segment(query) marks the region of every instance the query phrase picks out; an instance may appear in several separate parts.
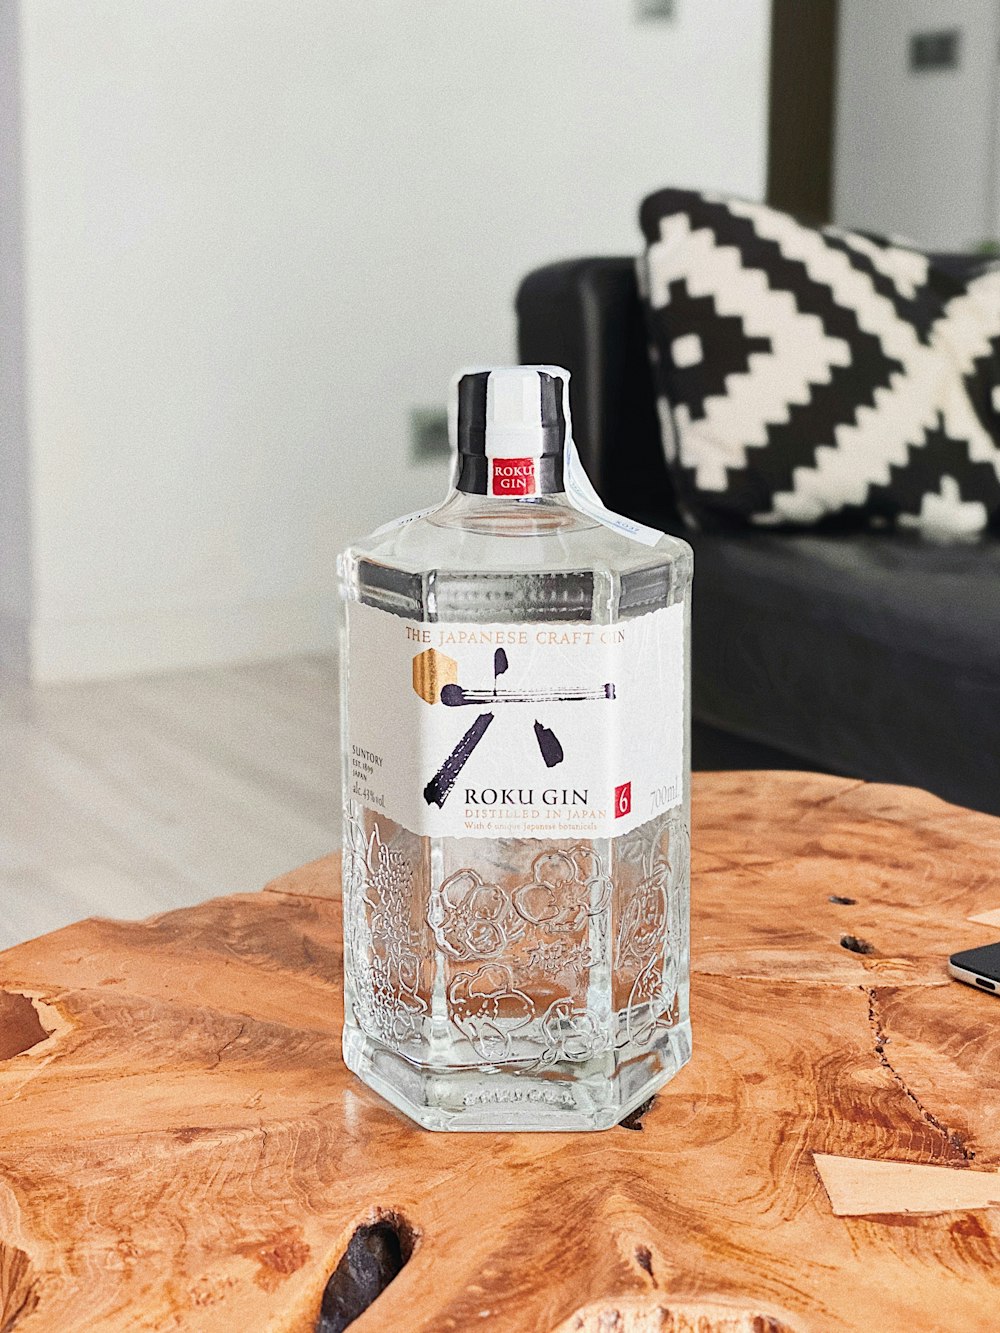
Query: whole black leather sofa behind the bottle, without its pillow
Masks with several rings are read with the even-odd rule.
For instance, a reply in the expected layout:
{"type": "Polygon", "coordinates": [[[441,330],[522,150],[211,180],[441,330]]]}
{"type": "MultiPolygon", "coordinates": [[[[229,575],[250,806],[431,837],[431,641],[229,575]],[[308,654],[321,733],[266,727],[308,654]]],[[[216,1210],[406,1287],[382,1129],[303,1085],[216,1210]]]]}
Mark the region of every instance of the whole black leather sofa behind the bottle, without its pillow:
{"type": "Polygon", "coordinates": [[[632,259],[529,273],[524,363],[564,365],[605,504],[695,548],[696,768],[812,768],[1000,814],[1000,541],[699,533],[660,448],[632,259]]]}

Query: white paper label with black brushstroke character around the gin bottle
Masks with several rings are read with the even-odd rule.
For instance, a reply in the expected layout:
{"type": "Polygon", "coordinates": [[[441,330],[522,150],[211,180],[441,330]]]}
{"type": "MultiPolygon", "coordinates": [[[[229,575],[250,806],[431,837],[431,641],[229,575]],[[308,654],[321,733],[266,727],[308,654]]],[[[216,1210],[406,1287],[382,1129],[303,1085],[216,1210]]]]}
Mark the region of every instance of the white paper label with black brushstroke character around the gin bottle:
{"type": "Polygon", "coordinates": [[[617,837],[683,797],[684,608],[440,624],[348,605],[351,798],[436,837],[617,837]]]}

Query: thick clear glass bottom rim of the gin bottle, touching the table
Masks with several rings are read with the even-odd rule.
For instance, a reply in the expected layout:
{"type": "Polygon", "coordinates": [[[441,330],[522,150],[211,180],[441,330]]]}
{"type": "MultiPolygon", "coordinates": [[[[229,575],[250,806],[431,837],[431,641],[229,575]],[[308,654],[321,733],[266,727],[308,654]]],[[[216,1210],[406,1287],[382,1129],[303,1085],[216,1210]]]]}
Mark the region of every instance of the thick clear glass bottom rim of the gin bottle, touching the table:
{"type": "Polygon", "coordinates": [[[424,1129],[533,1133],[612,1129],[648,1101],[691,1058],[691,1024],[663,1032],[639,1052],[608,1052],[587,1062],[431,1068],[353,1026],[344,1061],[361,1082],[424,1129]]]}

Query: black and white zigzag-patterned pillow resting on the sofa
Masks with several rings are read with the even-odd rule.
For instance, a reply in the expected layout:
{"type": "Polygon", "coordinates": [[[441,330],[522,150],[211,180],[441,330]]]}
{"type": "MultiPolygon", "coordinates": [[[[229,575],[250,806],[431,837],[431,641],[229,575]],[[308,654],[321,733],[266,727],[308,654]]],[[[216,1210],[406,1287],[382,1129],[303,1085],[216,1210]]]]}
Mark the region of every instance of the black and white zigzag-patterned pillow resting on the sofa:
{"type": "Polygon", "coordinates": [[[640,281],[701,525],[1000,531],[1000,265],[665,189],[640,281]]]}

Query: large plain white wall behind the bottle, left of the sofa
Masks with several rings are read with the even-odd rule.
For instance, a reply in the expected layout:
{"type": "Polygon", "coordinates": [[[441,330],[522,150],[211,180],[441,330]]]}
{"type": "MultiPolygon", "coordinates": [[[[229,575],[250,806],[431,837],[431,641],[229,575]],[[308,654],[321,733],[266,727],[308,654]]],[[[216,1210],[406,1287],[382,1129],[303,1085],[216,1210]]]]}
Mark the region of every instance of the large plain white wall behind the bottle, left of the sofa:
{"type": "Polygon", "coordinates": [[[332,641],[519,277],[760,196],[767,0],[23,0],[36,678],[332,641]]]}

